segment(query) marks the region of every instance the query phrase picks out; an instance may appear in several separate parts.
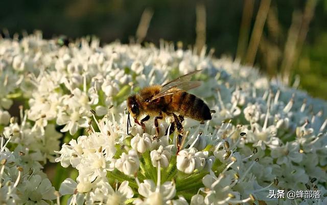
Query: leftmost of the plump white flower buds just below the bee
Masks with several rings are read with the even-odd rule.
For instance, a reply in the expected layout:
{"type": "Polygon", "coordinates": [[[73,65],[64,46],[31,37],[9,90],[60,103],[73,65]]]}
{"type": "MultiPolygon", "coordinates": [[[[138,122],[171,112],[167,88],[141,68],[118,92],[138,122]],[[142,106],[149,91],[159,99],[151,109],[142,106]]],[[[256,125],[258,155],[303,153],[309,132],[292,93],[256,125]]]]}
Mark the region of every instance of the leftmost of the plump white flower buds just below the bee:
{"type": "Polygon", "coordinates": [[[128,154],[122,153],[121,157],[115,162],[115,168],[126,175],[133,175],[139,168],[139,160],[134,150],[129,150],[128,154]]]}

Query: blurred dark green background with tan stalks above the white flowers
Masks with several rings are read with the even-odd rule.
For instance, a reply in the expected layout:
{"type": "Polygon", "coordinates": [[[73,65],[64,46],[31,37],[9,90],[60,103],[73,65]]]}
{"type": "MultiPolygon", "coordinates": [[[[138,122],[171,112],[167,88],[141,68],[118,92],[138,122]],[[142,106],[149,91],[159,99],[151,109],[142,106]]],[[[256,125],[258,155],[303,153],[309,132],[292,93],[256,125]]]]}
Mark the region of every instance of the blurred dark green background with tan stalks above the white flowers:
{"type": "Polygon", "coordinates": [[[159,39],[214,49],[327,99],[327,0],[2,1],[5,37],[96,35],[101,43],[159,39]],[[299,77],[299,78],[298,78],[299,77]]]}

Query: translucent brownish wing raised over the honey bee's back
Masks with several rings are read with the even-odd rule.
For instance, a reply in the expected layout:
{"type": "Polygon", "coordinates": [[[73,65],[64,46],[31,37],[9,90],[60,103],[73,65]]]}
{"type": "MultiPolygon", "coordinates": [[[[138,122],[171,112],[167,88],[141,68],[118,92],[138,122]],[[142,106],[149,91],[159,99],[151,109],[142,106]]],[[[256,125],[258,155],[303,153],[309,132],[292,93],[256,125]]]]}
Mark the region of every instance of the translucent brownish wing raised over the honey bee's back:
{"type": "Polygon", "coordinates": [[[188,73],[186,75],[180,76],[175,80],[172,80],[164,85],[162,85],[160,92],[153,96],[150,101],[153,101],[155,99],[173,95],[177,92],[181,92],[181,90],[190,90],[195,87],[198,87],[201,85],[201,81],[190,81],[192,76],[201,72],[202,70],[193,71],[191,73],[188,73]]]}

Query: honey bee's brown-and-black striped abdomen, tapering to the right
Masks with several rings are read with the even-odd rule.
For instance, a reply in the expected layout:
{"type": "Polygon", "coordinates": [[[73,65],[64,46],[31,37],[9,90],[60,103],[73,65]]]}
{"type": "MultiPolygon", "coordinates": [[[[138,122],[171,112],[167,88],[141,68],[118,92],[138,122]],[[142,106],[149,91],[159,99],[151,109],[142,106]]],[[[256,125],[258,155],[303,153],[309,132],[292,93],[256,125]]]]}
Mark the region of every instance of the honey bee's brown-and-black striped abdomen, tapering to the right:
{"type": "Polygon", "coordinates": [[[167,102],[167,111],[169,112],[178,112],[179,115],[198,121],[211,120],[209,107],[195,95],[178,92],[171,96],[166,96],[165,100],[167,102]]]}

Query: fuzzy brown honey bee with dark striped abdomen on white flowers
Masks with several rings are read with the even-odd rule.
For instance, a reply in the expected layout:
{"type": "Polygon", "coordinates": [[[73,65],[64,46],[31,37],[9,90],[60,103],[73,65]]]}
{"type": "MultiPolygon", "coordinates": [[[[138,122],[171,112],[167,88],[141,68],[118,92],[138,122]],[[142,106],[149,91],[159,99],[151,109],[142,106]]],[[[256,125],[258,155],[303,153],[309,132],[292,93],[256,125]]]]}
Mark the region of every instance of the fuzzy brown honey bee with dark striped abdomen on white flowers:
{"type": "MultiPolygon", "coordinates": [[[[134,118],[134,122],[141,125],[145,130],[144,122],[154,117],[154,125],[156,135],[159,134],[158,120],[164,117],[174,117],[171,128],[175,126],[179,133],[183,132],[181,122],[183,117],[192,118],[203,122],[211,120],[211,111],[209,107],[200,98],[187,93],[187,90],[193,89],[201,85],[200,81],[190,81],[192,76],[199,73],[201,70],[188,73],[179,78],[170,81],[164,85],[151,85],[143,88],[136,95],[131,95],[127,99],[128,106],[128,124],[130,124],[129,115],[134,118]],[[176,113],[179,115],[177,116],[176,113]],[[146,117],[138,121],[138,118],[146,114],[146,117]]],[[[170,130],[170,133],[172,131],[170,130]]],[[[167,131],[166,131],[167,133],[167,131]]]]}

